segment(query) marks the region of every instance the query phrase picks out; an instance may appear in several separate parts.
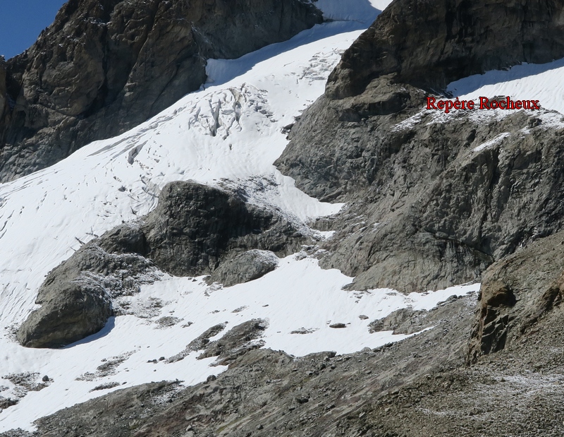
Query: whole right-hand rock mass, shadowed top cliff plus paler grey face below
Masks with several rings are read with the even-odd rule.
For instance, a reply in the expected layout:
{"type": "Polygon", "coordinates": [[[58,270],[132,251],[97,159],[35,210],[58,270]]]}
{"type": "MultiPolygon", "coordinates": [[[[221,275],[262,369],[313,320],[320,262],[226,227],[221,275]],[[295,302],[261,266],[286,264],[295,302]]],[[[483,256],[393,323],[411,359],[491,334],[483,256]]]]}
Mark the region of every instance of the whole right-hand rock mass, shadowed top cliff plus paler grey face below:
{"type": "Polygon", "coordinates": [[[343,54],[276,161],[310,196],[348,203],[320,223],[336,231],[322,266],[354,276],[351,289],[421,292],[479,280],[562,229],[558,117],[423,108],[450,80],[564,56],[551,36],[563,8],[394,1],[343,54]]]}

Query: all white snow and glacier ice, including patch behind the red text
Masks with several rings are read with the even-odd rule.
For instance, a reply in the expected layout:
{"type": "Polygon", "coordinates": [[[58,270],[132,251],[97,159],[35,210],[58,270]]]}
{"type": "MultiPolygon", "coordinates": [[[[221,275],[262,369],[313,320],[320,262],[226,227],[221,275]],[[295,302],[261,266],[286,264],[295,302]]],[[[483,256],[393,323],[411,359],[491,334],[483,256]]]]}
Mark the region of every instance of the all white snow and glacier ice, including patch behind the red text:
{"type": "MultiPolygon", "coordinates": [[[[49,270],[81,244],[146,215],[169,181],[243,189],[251,203],[276,208],[316,239],[331,238],[309,229],[307,222],[343,205],[310,198],[272,163],[288,143],[283,126],[324,92],[342,52],[386,4],[319,0],[317,6],[332,22],[240,59],[211,60],[207,84],[145,124],[87,145],[53,167],[0,184],[0,396],[20,399],[0,412],[0,432],[32,430],[35,419],[111,390],[150,381],[204,381],[225,368],[214,366],[214,359],[197,360],[197,353],[176,362],[166,359],[217,323],[227,328],[212,340],[238,323],[263,318],[269,323],[264,347],[295,356],[324,350],[343,354],[405,337],[370,334],[369,321],[407,306],[431,309],[453,294],[477,292],[479,284],[407,296],[391,289],[346,292],[342,287],[353,278],[321,270],[315,258],[302,252],[279,260],[278,268],[261,279],[234,287],[210,287],[202,277],[162,273],[126,298],[128,315],[111,318],[102,332],[63,349],[26,349],[13,335],[35,309],[37,289],[49,270]],[[165,316],[178,323],[158,323],[165,316]],[[347,328],[332,329],[331,323],[347,328]],[[308,333],[292,333],[296,330],[308,333]],[[104,363],[109,364],[106,371],[97,370],[104,363]],[[27,391],[11,381],[19,373],[37,383],[44,375],[53,381],[41,391],[27,391]],[[91,391],[109,383],[116,386],[91,391]]],[[[459,80],[449,90],[466,100],[479,95],[534,98],[544,108],[564,112],[563,74],[562,61],[522,65],[459,80]]]]}

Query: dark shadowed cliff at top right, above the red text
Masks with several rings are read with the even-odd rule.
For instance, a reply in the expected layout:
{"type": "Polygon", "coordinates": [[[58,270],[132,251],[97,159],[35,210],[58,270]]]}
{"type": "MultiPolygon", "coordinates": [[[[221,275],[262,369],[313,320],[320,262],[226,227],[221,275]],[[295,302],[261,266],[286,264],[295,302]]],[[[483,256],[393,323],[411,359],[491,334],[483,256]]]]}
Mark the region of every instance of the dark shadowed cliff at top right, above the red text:
{"type": "Polygon", "coordinates": [[[326,95],[361,94],[380,76],[441,90],[453,80],[564,56],[564,2],[396,0],[343,54],[326,95]]]}

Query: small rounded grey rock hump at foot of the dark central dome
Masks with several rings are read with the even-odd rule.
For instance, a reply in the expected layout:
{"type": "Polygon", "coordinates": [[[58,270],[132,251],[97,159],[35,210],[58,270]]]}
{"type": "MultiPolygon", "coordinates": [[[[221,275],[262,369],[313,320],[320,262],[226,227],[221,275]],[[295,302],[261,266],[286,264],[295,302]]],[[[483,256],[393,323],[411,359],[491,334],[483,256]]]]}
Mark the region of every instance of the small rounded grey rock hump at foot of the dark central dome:
{"type": "Polygon", "coordinates": [[[278,267],[278,257],[275,253],[255,249],[219,265],[219,268],[207,278],[207,283],[211,285],[219,282],[224,287],[231,287],[259,279],[276,267],[278,267]]]}

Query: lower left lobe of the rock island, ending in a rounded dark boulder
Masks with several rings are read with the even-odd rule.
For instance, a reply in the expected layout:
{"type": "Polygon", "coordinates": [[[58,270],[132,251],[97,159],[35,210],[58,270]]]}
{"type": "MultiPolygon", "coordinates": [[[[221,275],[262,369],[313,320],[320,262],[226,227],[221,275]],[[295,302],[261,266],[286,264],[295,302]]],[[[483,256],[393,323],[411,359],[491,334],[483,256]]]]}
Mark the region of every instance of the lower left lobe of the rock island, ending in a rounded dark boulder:
{"type": "Polygon", "coordinates": [[[35,301],[41,308],[20,326],[18,341],[25,347],[62,347],[97,333],[114,314],[112,298],[135,291],[151,267],[142,256],[87,244],[49,272],[35,301]]]}

